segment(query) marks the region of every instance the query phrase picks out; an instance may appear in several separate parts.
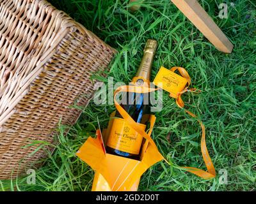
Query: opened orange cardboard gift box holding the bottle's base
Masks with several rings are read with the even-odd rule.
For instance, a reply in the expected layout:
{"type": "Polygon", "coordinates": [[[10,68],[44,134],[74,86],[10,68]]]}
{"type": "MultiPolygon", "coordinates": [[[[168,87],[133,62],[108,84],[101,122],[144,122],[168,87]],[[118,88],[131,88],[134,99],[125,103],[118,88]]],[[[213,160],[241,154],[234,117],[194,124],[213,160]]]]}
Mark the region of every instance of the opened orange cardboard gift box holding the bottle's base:
{"type": "MultiPolygon", "coordinates": [[[[125,128],[132,129],[124,119],[112,118],[113,115],[115,113],[111,115],[108,129],[104,129],[102,134],[98,129],[97,138],[89,137],[77,152],[77,156],[95,170],[92,191],[137,191],[141,175],[150,166],[161,161],[163,157],[157,154],[156,149],[147,140],[143,143],[140,161],[106,153],[105,147],[109,132],[118,128],[113,127],[115,120],[123,120],[125,128]]],[[[148,136],[151,135],[156,121],[154,115],[149,115],[149,117],[148,136]]]]}

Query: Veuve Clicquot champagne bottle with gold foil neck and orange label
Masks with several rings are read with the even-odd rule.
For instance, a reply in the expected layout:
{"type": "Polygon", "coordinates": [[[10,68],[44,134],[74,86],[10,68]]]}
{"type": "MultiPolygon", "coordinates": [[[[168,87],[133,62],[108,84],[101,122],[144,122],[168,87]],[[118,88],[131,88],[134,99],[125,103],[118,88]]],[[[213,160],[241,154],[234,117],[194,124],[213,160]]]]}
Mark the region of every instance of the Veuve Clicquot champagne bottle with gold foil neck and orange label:
{"type": "MultiPolygon", "coordinates": [[[[148,40],[144,49],[143,59],[140,67],[133,78],[132,84],[136,86],[147,86],[150,83],[150,74],[154,55],[156,54],[157,41],[148,40]]],[[[126,104],[120,104],[124,110],[134,119],[135,122],[146,129],[147,119],[143,117],[150,113],[149,94],[127,93],[126,104]]],[[[115,117],[122,118],[116,111],[115,117]]],[[[143,137],[138,135],[131,127],[124,123],[124,119],[115,120],[107,142],[106,150],[110,154],[138,159],[140,156],[143,137]]]]}

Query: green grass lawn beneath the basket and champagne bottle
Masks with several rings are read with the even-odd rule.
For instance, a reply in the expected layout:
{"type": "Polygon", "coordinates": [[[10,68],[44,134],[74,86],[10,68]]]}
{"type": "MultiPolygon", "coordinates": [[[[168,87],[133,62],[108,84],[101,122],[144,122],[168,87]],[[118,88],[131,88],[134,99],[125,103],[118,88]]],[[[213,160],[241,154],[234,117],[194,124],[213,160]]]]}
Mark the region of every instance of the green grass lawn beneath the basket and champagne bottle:
{"type": "MultiPolygon", "coordinates": [[[[187,108],[200,115],[207,133],[207,147],[218,173],[228,171],[228,184],[203,180],[191,173],[161,162],[143,175],[140,191],[255,191],[256,182],[256,3],[252,0],[225,1],[228,18],[218,18],[218,5],[224,1],[200,1],[235,45],[232,54],[216,50],[169,0],[145,1],[141,10],[131,13],[125,1],[51,1],[60,10],[81,22],[102,40],[118,50],[109,77],[115,82],[131,81],[140,64],[148,38],[159,41],[152,79],[160,66],[183,66],[200,94],[185,94],[187,108]]],[[[107,79],[95,76],[103,82],[107,79]]],[[[175,165],[205,169],[200,153],[200,128],[175,105],[165,92],[164,108],[157,113],[152,138],[165,157],[175,165]],[[170,136],[170,140],[168,137],[170,136]]],[[[0,181],[2,190],[90,191],[93,170],[76,157],[76,151],[89,135],[94,135],[97,117],[108,124],[113,105],[79,107],[83,115],[67,136],[61,126],[56,140],[60,145],[36,170],[36,184],[26,177],[0,181]]]]}

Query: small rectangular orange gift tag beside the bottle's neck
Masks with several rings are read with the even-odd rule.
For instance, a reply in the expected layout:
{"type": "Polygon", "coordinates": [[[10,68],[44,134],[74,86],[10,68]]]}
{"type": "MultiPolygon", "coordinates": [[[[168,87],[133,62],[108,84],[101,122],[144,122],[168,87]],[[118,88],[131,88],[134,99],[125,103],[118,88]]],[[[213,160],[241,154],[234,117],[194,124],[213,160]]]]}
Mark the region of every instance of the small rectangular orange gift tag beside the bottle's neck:
{"type": "Polygon", "coordinates": [[[188,80],[162,66],[153,83],[164,91],[170,92],[171,97],[178,98],[179,93],[188,84],[188,80]]]}

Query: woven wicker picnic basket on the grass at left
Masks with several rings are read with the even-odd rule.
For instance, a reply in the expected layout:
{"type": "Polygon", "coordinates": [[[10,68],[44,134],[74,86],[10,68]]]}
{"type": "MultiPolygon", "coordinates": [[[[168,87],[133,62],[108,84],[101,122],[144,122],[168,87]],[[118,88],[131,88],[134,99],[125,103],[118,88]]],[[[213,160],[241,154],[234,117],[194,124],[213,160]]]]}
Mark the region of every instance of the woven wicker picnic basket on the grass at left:
{"type": "Polygon", "coordinates": [[[53,142],[58,122],[93,95],[95,71],[115,53],[83,25],[47,1],[0,0],[0,179],[45,156],[32,140],[53,142]]]}

